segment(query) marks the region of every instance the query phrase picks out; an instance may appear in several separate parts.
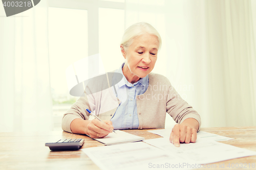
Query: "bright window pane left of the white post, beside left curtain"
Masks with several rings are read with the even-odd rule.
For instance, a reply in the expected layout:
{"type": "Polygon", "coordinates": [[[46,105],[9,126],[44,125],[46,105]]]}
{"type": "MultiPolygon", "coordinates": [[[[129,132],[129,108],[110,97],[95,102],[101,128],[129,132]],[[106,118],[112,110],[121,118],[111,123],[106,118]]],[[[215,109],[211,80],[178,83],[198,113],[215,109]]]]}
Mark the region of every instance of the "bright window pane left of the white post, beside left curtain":
{"type": "Polygon", "coordinates": [[[60,128],[65,110],[76,101],[69,94],[65,73],[70,64],[88,56],[87,32],[87,10],[49,8],[49,58],[55,130],[60,128]]]}

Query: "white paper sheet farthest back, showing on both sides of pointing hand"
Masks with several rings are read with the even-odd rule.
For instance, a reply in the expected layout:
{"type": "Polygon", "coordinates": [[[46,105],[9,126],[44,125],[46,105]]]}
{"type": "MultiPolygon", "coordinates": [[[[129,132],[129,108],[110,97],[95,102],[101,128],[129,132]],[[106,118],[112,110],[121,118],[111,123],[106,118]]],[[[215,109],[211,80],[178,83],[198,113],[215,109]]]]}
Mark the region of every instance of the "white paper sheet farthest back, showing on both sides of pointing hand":
{"type": "MultiPolygon", "coordinates": [[[[172,132],[172,129],[159,129],[159,130],[150,130],[148,132],[155,133],[159,136],[169,138],[170,133],[172,132]]],[[[221,136],[221,135],[216,135],[213,133],[208,133],[204,131],[199,131],[197,133],[197,138],[205,138],[209,140],[215,140],[215,141],[223,141],[223,140],[231,140],[232,138],[221,136]]]]}

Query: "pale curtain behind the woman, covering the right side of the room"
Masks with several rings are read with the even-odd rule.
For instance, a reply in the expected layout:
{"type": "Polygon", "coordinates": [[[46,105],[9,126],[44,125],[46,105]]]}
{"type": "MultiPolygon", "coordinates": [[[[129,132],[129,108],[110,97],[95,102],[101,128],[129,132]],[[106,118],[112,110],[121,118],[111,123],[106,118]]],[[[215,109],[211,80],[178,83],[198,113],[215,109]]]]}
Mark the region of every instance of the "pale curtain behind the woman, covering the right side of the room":
{"type": "Polygon", "coordinates": [[[153,72],[201,115],[202,127],[256,126],[256,2],[126,0],[125,28],[163,39],[153,72]]]}

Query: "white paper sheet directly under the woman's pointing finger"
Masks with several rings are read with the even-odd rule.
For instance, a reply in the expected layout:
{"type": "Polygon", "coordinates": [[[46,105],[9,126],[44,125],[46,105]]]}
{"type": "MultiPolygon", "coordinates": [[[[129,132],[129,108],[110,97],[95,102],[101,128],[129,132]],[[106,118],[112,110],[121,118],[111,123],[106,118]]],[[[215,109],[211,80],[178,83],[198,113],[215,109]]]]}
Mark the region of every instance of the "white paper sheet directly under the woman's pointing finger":
{"type": "Polygon", "coordinates": [[[183,160],[197,162],[199,164],[256,155],[254,151],[202,138],[199,138],[196,143],[181,143],[180,147],[175,147],[166,137],[148,139],[144,140],[144,142],[154,145],[168,153],[173,153],[183,160]]]}

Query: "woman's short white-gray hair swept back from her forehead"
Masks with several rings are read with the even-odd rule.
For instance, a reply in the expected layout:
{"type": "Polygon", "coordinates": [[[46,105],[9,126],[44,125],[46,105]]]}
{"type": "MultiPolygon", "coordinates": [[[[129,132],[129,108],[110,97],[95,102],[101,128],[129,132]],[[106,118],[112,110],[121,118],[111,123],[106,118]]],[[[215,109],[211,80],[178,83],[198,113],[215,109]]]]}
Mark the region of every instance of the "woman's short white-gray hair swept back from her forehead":
{"type": "Polygon", "coordinates": [[[160,47],[162,44],[161,36],[152,25],[146,22],[134,23],[132,26],[127,28],[123,34],[120,45],[123,45],[124,50],[126,51],[126,49],[132,44],[135,38],[145,33],[155,35],[158,37],[158,42],[159,42],[158,50],[160,50],[160,47]]]}

